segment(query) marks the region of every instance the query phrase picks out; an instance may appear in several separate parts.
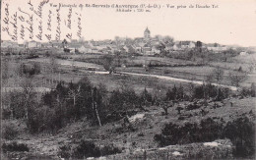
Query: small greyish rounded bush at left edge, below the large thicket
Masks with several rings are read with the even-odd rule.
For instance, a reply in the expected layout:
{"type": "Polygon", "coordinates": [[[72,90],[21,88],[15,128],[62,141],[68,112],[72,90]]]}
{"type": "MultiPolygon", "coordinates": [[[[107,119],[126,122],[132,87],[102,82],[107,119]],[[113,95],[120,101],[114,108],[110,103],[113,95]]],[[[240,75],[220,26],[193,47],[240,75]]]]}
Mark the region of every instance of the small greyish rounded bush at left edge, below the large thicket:
{"type": "Polygon", "coordinates": [[[4,123],[2,126],[2,135],[3,138],[12,140],[17,137],[18,135],[18,130],[16,126],[13,123],[4,123]]]}

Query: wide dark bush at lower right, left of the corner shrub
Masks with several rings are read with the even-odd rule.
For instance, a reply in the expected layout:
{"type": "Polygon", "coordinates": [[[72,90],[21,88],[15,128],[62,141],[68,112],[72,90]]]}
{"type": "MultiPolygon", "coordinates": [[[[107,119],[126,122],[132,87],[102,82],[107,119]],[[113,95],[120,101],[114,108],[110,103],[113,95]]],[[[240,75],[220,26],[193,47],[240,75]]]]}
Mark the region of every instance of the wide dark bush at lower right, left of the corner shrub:
{"type": "Polygon", "coordinates": [[[178,126],[169,123],[154,138],[160,143],[160,146],[213,141],[222,137],[222,129],[223,125],[215,122],[211,118],[202,120],[200,125],[186,123],[184,126],[178,126]]]}

